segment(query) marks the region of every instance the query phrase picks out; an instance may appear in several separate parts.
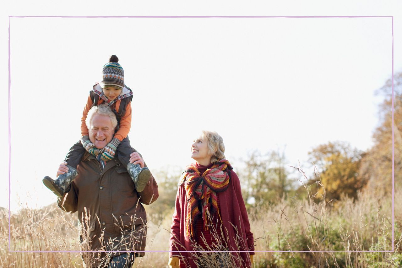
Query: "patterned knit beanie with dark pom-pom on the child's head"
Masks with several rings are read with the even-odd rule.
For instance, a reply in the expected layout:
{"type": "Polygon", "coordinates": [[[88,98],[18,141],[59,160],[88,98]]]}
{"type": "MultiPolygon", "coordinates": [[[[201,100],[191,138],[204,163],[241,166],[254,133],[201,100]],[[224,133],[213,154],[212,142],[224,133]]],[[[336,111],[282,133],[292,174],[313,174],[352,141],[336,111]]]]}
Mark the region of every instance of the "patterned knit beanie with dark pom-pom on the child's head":
{"type": "Polygon", "coordinates": [[[102,88],[116,87],[122,89],[124,87],[124,70],[118,64],[119,58],[116,55],[112,55],[109,58],[109,62],[102,68],[103,80],[100,82],[102,88]]]}

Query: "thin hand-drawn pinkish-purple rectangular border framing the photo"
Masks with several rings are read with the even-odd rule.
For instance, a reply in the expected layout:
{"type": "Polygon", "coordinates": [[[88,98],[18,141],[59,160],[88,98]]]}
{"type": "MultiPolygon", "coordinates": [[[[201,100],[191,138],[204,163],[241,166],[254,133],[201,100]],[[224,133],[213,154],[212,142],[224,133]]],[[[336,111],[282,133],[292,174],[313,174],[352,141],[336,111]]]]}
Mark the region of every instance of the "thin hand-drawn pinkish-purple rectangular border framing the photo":
{"type": "MultiPolygon", "coordinates": [[[[11,132],[10,132],[10,88],[11,88],[11,68],[10,68],[10,31],[11,18],[391,18],[392,19],[392,122],[394,122],[394,16],[9,16],[8,21],[8,251],[9,252],[72,252],[84,253],[88,251],[43,251],[43,250],[10,250],[11,247],[11,132]]],[[[392,250],[275,250],[275,251],[254,251],[254,252],[394,252],[394,124],[392,124],[392,250]]],[[[119,252],[119,251],[111,251],[119,252]]],[[[121,251],[121,252],[176,252],[169,250],[144,250],[144,251],[121,251]]],[[[183,251],[184,252],[184,251],[183,251]]],[[[200,252],[200,251],[189,251],[200,252]]],[[[207,251],[209,252],[209,251],[207,251]]],[[[215,252],[215,251],[210,251],[215,252]]],[[[228,251],[234,252],[234,251],[228,251]]],[[[244,251],[235,251],[244,252],[244,251]]],[[[248,251],[246,251],[248,252],[248,251]]]]}

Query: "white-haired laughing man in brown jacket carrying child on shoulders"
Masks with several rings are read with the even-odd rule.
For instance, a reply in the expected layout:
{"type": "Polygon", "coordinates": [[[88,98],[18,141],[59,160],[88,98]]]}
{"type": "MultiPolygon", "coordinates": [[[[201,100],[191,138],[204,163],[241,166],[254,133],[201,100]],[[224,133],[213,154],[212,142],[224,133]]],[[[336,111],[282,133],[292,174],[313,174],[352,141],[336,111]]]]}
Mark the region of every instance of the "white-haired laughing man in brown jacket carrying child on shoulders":
{"type": "MultiPolygon", "coordinates": [[[[96,148],[105,147],[117,125],[113,111],[106,104],[92,107],[87,122],[90,141],[96,148]]],[[[146,166],[138,153],[133,153],[131,160],[146,166]]],[[[64,164],[59,166],[57,175],[68,173],[64,164]]],[[[77,177],[57,204],[67,212],[78,211],[82,249],[95,251],[82,254],[84,263],[87,267],[131,267],[135,257],[144,256],[144,252],[138,252],[144,251],[146,241],[146,212],[142,204],[149,205],[158,198],[154,177],[151,175],[145,189],[137,192],[117,157],[105,162],[89,153],[84,155],[77,171],[77,177]]]]}

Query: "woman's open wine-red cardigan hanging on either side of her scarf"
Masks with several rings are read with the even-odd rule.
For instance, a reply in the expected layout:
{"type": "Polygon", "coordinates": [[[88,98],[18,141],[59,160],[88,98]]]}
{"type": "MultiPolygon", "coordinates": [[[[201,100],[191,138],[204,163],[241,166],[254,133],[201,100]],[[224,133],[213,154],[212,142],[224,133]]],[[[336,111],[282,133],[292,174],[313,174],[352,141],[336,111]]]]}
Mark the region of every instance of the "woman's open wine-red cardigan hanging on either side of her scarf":
{"type": "MultiPolygon", "coordinates": [[[[224,237],[229,238],[228,250],[235,256],[242,257],[242,263],[236,264],[237,267],[250,267],[251,262],[249,255],[254,255],[254,237],[250,231],[250,223],[248,221],[246,206],[244,205],[240,181],[236,173],[231,171],[231,179],[228,189],[224,192],[217,193],[219,198],[219,214],[222,219],[224,237]],[[236,229],[240,241],[236,243],[236,229]],[[238,247],[239,245],[239,247],[238,247]],[[239,252],[240,251],[240,252],[239,252]],[[241,252],[244,251],[244,252],[241,252]]],[[[178,187],[176,195],[176,206],[172,217],[172,227],[170,228],[169,257],[176,256],[180,259],[180,267],[197,267],[191,258],[194,253],[185,252],[193,251],[192,243],[185,235],[186,228],[186,190],[184,185],[178,187]],[[179,251],[179,252],[172,252],[179,251]]]]}

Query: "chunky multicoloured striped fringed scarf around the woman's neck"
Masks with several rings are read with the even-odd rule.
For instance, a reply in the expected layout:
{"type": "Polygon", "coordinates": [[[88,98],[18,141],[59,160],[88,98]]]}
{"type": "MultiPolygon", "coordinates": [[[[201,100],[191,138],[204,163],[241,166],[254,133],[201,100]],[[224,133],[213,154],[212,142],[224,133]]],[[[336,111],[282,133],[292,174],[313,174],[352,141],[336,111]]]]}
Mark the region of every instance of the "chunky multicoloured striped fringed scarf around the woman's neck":
{"type": "Polygon", "coordinates": [[[222,159],[201,174],[195,164],[189,165],[183,172],[179,185],[186,190],[187,205],[187,236],[194,238],[195,223],[203,219],[204,227],[208,226],[208,214],[218,212],[217,192],[228,189],[230,170],[233,167],[229,161],[222,159]]]}

